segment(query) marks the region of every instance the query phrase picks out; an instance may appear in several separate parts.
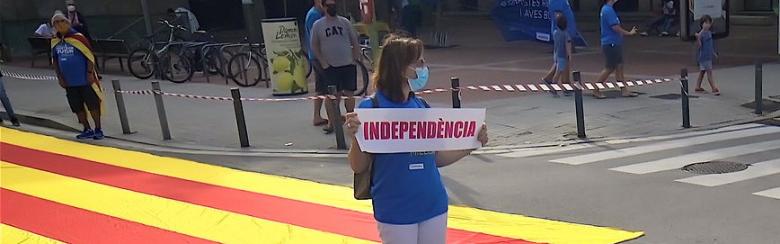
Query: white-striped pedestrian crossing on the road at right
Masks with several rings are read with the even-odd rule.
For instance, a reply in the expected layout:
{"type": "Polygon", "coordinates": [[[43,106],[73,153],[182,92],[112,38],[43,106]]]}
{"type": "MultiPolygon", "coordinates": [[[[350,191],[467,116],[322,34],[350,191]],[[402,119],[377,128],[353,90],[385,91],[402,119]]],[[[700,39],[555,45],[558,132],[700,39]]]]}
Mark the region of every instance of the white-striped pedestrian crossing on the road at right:
{"type": "MultiPolygon", "coordinates": [[[[762,177],[780,177],[780,127],[762,124],[745,124],[711,131],[691,133],[689,136],[677,135],[676,139],[663,140],[646,145],[612,149],[598,152],[573,153],[573,156],[552,158],[551,163],[572,166],[589,164],[621,165],[607,168],[609,171],[627,173],[641,177],[643,175],[679,170],[697,162],[724,159],[742,159],[749,167],[743,171],[696,175],[674,180],[704,187],[717,187],[732,183],[750,181],[762,177]],[[690,147],[705,148],[690,152],[690,147]],[[759,155],[758,162],[747,161],[759,155]]],[[[502,157],[521,158],[544,156],[539,154],[500,154],[502,157]],[[530,156],[530,157],[532,157],[530,156]]],[[[598,166],[595,166],[598,167],[598,166]]],[[[780,185],[763,189],[753,195],[780,200],[780,185]]]]}

